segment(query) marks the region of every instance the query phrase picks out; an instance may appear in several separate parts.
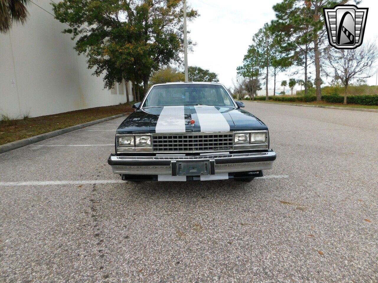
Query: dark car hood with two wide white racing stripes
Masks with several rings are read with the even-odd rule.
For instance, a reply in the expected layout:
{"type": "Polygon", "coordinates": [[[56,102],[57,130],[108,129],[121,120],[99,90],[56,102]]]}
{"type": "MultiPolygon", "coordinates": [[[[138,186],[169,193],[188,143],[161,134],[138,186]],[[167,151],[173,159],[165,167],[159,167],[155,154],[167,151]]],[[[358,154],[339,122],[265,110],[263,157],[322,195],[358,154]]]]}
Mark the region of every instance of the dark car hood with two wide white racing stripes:
{"type": "Polygon", "coordinates": [[[138,109],[117,132],[180,133],[267,130],[251,113],[227,106],[161,106],[138,109]],[[194,120],[194,124],[191,124],[194,120]],[[193,125],[193,126],[192,126],[193,125]]]}

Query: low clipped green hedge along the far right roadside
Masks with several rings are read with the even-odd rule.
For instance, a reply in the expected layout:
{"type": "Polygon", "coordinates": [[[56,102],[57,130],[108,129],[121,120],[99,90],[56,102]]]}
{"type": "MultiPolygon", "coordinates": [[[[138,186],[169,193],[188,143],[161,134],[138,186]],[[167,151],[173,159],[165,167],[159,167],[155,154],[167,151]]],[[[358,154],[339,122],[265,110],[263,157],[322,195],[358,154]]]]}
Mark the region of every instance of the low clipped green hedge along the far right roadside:
{"type": "MultiPolygon", "coordinates": [[[[249,99],[248,99],[249,100],[249,99]]],[[[257,96],[255,100],[265,100],[265,96],[257,96]]],[[[269,100],[279,102],[313,102],[316,101],[315,95],[306,96],[269,96],[269,100]]],[[[322,101],[328,103],[343,103],[344,96],[341,95],[322,95],[322,101]]],[[[378,95],[349,95],[347,96],[347,104],[360,105],[378,105],[378,95]]]]}

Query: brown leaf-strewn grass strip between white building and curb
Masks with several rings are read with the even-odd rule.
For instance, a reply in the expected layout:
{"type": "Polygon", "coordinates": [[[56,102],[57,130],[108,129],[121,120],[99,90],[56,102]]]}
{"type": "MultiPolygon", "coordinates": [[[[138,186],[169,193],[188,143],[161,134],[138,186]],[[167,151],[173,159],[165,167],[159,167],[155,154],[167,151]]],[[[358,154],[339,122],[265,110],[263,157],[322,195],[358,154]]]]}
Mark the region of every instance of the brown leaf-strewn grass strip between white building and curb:
{"type": "Polygon", "coordinates": [[[2,118],[0,121],[0,145],[125,112],[132,112],[131,106],[126,103],[34,118],[25,115],[26,117],[19,120],[12,120],[6,115],[2,115],[0,117],[2,118]]]}

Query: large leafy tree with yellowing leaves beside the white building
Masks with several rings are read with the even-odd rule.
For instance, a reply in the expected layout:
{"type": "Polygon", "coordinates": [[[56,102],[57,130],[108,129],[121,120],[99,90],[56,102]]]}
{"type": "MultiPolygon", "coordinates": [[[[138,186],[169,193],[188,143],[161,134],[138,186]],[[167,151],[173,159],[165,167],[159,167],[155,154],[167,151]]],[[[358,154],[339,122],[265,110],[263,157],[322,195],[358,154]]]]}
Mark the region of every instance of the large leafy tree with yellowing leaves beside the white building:
{"type": "MultiPolygon", "coordinates": [[[[69,28],[74,49],[87,57],[104,85],[132,81],[139,100],[152,72],[181,62],[183,2],[179,0],[62,0],[52,3],[55,17],[69,28]]],[[[187,12],[188,20],[197,12],[187,12]]],[[[189,45],[191,41],[189,40],[189,45]]]]}

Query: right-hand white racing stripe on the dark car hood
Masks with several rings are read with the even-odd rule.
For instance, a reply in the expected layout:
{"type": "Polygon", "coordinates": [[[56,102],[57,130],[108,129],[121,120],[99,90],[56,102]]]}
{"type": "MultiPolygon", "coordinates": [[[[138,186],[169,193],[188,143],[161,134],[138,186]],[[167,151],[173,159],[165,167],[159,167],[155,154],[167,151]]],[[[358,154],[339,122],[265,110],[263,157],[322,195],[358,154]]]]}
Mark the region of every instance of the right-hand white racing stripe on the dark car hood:
{"type": "Polygon", "coordinates": [[[215,106],[194,106],[201,132],[229,131],[230,125],[215,106]]]}

